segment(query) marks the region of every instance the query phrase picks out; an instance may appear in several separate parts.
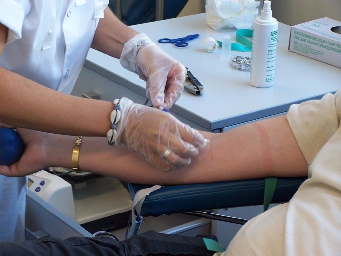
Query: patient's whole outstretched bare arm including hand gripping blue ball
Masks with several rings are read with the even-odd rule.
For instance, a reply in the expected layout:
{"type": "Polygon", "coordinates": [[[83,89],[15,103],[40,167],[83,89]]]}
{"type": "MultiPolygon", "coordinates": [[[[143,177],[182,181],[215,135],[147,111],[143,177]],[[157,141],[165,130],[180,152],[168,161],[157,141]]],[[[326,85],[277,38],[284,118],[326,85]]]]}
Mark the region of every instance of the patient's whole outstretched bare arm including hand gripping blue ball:
{"type": "MultiPolygon", "coordinates": [[[[25,134],[27,131],[19,129],[19,132],[24,139],[29,137],[25,134]]],[[[189,166],[173,168],[168,172],[151,166],[125,146],[108,146],[105,139],[98,137],[83,138],[79,166],[83,171],[159,185],[307,175],[306,161],[285,116],[240,126],[224,133],[203,134],[210,142],[201,149],[199,156],[189,166]]],[[[29,144],[27,151],[33,150],[34,139],[25,141],[29,144]]],[[[25,175],[28,174],[28,167],[31,172],[45,166],[70,168],[75,139],[49,134],[45,139],[40,139],[43,146],[36,145],[40,154],[28,154],[27,159],[23,156],[22,163],[19,161],[14,164],[17,166],[9,169],[0,166],[0,173],[25,175]]]]}

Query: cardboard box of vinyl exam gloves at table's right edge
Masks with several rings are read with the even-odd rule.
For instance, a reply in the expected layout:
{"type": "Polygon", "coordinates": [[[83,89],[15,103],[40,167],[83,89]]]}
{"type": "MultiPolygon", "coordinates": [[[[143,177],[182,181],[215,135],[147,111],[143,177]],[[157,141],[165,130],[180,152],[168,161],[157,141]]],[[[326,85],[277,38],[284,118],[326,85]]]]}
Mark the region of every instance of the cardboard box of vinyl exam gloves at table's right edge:
{"type": "Polygon", "coordinates": [[[341,68],[341,22],[321,18],[291,27],[289,50],[341,68]]]}

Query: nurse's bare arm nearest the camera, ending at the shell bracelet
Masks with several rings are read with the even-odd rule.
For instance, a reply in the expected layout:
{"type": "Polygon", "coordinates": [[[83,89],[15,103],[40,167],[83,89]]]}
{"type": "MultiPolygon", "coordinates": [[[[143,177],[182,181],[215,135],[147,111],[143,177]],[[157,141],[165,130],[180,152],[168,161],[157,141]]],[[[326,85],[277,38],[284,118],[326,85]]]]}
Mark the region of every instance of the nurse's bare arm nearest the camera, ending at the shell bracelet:
{"type": "MultiPolygon", "coordinates": [[[[8,29],[0,24],[0,57],[8,29]]],[[[68,135],[106,137],[113,105],[66,95],[0,66],[0,122],[68,135]]]]}

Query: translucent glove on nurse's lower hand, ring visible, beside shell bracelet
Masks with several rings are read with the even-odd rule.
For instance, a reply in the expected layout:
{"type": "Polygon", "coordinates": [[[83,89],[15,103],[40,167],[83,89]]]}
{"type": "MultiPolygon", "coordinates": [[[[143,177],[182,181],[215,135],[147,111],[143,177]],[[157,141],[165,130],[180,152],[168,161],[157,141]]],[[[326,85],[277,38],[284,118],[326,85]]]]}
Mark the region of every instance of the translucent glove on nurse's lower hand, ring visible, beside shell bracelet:
{"type": "Polygon", "coordinates": [[[199,154],[198,147],[206,144],[197,130],[165,111],[135,104],[127,98],[120,100],[120,111],[115,144],[126,144],[163,171],[190,164],[191,158],[199,154]],[[162,156],[167,149],[171,153],[165,159],[162,156]]]}

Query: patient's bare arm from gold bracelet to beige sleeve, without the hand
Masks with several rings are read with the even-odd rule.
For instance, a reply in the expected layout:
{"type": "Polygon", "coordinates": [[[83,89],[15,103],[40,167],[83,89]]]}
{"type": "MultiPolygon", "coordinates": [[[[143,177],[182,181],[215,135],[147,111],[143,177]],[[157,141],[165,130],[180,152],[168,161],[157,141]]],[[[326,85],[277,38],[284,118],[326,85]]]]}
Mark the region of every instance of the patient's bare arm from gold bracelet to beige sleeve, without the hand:
{"type": "Polygon", "coordinates": [[[81,149],[80,167],[98,171],[99,162],[105,175],[136,183],[162,185],[307,175],[306,161],[285,116],[240,126],[224,133],[203,134],[210,142],[201,149],[199,156],[189,166],[173,168],[168,172],[153,168],[124,147],[113,148],[117,150],[113,158],[112,152],[102,150],[103,143],[95,143],[98,149],[93,146],[81,149]],[[96,156],[93,151],[98,152],[96,156]]]}

